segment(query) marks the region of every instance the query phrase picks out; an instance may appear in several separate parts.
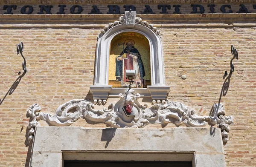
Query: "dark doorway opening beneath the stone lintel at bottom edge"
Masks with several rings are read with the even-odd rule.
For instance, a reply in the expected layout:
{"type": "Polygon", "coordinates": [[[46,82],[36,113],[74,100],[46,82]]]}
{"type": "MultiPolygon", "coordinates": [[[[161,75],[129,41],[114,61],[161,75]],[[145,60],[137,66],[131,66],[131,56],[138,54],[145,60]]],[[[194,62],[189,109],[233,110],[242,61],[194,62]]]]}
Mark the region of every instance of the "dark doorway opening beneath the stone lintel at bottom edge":
{"type": "Polygon", "coordinates": [[[192,167],[187,161],[64,161],[64,167],[192,167]]]}

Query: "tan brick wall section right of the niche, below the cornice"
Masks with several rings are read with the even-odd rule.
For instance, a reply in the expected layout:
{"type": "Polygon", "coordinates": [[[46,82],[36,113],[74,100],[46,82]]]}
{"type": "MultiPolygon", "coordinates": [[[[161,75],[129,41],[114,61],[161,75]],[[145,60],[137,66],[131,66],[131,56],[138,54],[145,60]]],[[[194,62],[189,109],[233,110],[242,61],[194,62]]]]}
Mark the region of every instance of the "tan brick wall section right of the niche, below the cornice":
{"type": "MultiPolygon", "coordinates": [[[[236,46],[239,61],[226,96],[221,97],[227,115],[234,116],[230,137],[224,146],[227,167],[256,166],[256,30],[235,29],[162,29],[168,98],[201,107],[207,115],[217,103],[224,83],[224,71],[230,71],[230,46],[236,46]],[[186,80],[180,78],[187,75],[186,80]],[[204,111],[204,110],[207,110],[204,111]]],[[[197,108],[197,107],[195,107],[197,108]]]]}

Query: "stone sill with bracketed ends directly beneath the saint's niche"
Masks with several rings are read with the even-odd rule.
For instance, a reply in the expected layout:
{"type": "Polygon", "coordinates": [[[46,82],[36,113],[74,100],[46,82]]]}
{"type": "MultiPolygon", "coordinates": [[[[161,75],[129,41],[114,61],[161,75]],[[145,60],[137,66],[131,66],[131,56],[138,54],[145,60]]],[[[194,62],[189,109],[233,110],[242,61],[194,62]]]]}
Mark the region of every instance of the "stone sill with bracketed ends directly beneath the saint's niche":
{"type": "MultiPolygon", "coordinates": [[[[93,85],[90,86],[90,92],[93,94],[94,104],[105,104],[108,98],[118,98],[120,93],[124,93],[128,88],[112,88],[111,85],[93,85]]],[[[165,102],[170,92],[170,86],[152,85],[147,88],[132,88],[135,93],[139,93],[141,98],[151,98],[152,103],[165,102]]]]}

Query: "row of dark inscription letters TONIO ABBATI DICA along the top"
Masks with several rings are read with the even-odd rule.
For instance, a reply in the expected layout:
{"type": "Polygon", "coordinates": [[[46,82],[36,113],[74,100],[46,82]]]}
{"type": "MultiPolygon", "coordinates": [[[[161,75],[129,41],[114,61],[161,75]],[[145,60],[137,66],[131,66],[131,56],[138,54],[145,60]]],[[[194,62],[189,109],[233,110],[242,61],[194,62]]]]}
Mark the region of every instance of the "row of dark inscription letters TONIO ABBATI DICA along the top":
{"type": "MultiPolygon", "coordinates": [[[[205,12],[205,8],[209,8],[208,13],[251,13],[248,10],[248,7],[253,7],[253,9],[256,9],[256,4],[233,4],[232,6],[238,7],[237,11],[232,10],[232,6],[230,4],[221,4],[220,8],[216,7],[215,4],[207,4],[207,6],[203,6],[200,4],[191,4],[191,12],[186,12],[186,13],[191,13],[191,14],[203,14],[207,13],[205,12]]],[[[21,6],[19,6],[21,7],[21,6]]],[[[70,13],[65,12],[67,11],[67,5],[60,4],[58,6],[52,6],[52,5],[39,5],[39,10],[34,12],[35,6],[32,5],[24,5],[21,8],[19,8],[17,5],[4,5],[3,7],[0,7],[5,11],[3,14],[123,14],[121,12],[121,8],[123,7],[125,11],[136,11],[136,6],[134,5],[124,5],[124,6],[119,6],[119,5],[108,5],[108,12],[102,13],[100,12],[100,9],[98,6],[93,5],[92,9],[90,11],[83,12],[83,6],[80,5],[73,5],[69,8],[70,13]],[[17,9],[20,9],[20,11],[16,11],[17,9]],[[57,10],[58,12],[53,13],[52,9],[57,10]],[[15,13],[14,13],[15,11],[15,13]],[[34,13],[33,13],[34,12],[34,13]],[[83,12],[83,13],[82,13],[83,12]]],[[[160,10],[160,14],[181,14],[180,10],[182,9],[183,6],[178,5],[178,4],[158,4],[157,9],[160,10]],[[175,12],[168,12],[171,7],[175,9],[175,12]]],[[[38,6],[36,6],[38,8],[38,6]]],[[[145,5],[143,12],[138,14],[156,14],[156,12],[153,11],[155,9],[155,6],[149,6],[145,5]]]]}

